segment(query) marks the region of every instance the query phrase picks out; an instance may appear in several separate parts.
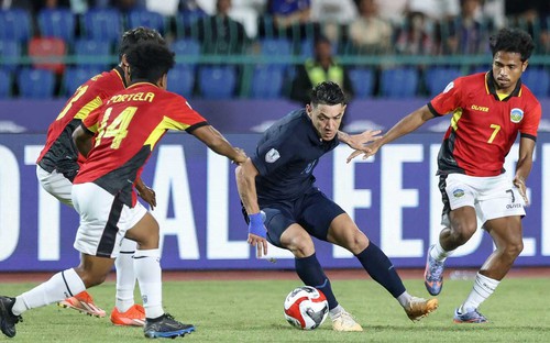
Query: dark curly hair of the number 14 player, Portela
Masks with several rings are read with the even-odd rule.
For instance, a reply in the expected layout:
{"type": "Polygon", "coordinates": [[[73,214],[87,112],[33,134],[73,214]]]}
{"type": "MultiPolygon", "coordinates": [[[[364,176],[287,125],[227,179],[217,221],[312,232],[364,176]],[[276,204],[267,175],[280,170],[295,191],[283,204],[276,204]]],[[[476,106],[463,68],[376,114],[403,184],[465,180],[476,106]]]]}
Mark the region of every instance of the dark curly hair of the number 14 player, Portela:
{"type": "Polygon", "coordinates": [[[127,60],[132,81],[144,79],[153,84],[167,74],[175,64],[174,53],[167,46],[153,42],[132,46],[127,54],[127,60]]]}

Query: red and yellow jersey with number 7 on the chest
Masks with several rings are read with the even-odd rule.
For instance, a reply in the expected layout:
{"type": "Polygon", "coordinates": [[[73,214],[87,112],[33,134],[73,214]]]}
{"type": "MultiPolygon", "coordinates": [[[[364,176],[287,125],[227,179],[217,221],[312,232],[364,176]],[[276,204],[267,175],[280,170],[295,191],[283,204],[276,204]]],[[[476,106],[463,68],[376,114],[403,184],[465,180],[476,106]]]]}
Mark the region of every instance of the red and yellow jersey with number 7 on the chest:
{"type": "Polygon", "coordinates": [[[439,174],[503,174],[504,159],[517,139],[537,139],[541,107],[518,80],[514,91],[497,95],[492,71],[460,77],[433,98],[435,115],[452,113],[439,152],[439,174]]]}

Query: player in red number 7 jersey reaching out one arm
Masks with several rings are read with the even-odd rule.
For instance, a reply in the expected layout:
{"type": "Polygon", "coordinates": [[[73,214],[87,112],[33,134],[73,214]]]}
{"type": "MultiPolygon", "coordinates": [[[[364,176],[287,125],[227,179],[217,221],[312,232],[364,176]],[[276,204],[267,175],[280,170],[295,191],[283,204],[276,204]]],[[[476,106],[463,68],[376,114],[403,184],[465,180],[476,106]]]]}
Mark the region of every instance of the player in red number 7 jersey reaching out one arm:
{"type": "Polygon", "coordinates": [[[532,166],[541,107],[520,77],[534,47],[528,33],[501,30],[491,37],[492,70],[459,77],[428,104],[395,124],[382,140],[349,157],[374,155],[382,145],[428,120],[452,113],[438,157],[446,229],[428,251],[426,288],[431,295],[441,291],[443,263],[472,237],[477,219],[496,246],[477,273],[472,291],[455,310],[458,323],[487,322],[477,308],[495,291],[524,248],[521,218],[528,204],[525,181],[532,166]],[[514,179],[509,180],[503,165],[518,133],[519,156],[514,179]]]}

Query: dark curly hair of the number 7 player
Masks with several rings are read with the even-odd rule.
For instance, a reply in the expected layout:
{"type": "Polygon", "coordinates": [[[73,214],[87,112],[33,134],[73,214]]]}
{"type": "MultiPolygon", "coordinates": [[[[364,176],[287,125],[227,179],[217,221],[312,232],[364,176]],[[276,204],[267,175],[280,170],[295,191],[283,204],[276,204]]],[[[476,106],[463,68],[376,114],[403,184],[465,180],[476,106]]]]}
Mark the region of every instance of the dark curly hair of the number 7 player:
{"type": "Polygon", "coordinates": [[[497,52],[519,53],[521,62],[531,57],[535,43],[531,36],[519,29],[502,29],[496,35],[490,38],[491,52],[493,57],[497,52]]]}

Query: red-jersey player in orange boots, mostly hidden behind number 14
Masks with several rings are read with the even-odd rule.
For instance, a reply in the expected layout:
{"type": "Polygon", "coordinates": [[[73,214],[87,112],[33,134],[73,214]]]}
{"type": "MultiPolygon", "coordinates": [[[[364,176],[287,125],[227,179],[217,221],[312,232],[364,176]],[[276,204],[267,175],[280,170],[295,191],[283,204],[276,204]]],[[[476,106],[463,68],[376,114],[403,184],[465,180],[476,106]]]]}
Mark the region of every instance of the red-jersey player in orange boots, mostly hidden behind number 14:
{"type": "MultiPolygon", "coordinates": [[[[166,44],[158,32],[147,27],[136,27],[125,32],[120,44],[120,64],[114,69],[103,71],[78,87],[48,128],[46,144],[36,161],[36,175],[42,187],[65,204],[73,207],[70,198],[73,180],[82,161],[74,146],[73,131],[90,112],[127,87],[125,54],[130,47],[140,42],[166,44]]],[[[136,186],[140,196],[152,208],[156,206],[154,191],[141,181],[136,186]]],[[[110,317],[111,322],[117,325],[144,324],[143,307],[134,303],[135,275],[132,259],[134,251],[135,242],[123,240],[121,253],[116,262],[117,300],[110,317]]],[[[59,306],[90,316],[106,316],[106,311],[94,303],[94,298],[87,291],[61,301],[59,306]]]]}

